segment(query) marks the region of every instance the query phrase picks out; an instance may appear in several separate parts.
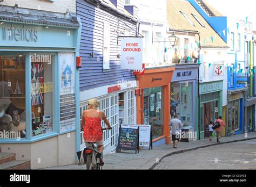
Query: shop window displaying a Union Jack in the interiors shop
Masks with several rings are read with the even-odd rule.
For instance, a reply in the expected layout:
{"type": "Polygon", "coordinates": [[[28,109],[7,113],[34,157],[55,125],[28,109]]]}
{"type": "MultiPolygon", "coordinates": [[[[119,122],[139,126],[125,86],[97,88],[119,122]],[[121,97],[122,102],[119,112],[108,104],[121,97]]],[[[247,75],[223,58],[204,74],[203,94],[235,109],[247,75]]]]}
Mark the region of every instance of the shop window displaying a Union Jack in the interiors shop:
{"type": "Polygon", "coordinates": [[[41,56],[47,56],[51,63],[43,58],[39,62],[31,59],[32,136],[53,131],[53,56],[41,56]]]}

